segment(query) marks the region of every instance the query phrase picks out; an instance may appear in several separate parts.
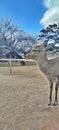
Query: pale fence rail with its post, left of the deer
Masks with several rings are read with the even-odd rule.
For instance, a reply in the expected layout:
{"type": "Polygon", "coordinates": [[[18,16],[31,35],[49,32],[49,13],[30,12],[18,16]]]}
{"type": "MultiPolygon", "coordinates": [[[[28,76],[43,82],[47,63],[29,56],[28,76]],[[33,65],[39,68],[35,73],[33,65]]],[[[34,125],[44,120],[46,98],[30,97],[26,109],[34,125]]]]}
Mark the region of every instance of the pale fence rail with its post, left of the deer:
{"type": "Polygon", "coordinates": [[[32,59],[0,59],[0,62],[9,62],[9,67],[10,67],[10,75],[12,74],[12,61],[27,61],[27,62],[36,62],[35,60],[32,59]]]}

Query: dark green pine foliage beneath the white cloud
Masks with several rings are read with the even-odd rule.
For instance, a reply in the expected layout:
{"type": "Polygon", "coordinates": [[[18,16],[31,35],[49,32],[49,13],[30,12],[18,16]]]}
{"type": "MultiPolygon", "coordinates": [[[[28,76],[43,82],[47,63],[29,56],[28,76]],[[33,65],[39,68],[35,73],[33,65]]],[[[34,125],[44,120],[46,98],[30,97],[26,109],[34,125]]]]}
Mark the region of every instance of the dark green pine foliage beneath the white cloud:
{"type": "Polygon", "coordinates": [[[52,40],[54,40],[54,43],[59,43],[59,23],[54,23],[45,29],[42,29],[39,40],[43,41],[43,43],[48,43],[52,40]]]}

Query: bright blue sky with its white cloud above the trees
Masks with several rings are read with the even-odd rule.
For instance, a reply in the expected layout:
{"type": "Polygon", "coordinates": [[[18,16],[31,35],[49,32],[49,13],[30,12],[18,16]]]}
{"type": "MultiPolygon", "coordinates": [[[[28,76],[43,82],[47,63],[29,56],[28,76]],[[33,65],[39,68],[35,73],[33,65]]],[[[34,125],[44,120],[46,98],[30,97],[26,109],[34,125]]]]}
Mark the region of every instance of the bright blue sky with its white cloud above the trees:
{"type": "Polygon", "coordinates": [[[21,29],[39,34],[43,27],[58,22],[59,0],[0,0],[0,16],[11,17],[21,29]]]}

